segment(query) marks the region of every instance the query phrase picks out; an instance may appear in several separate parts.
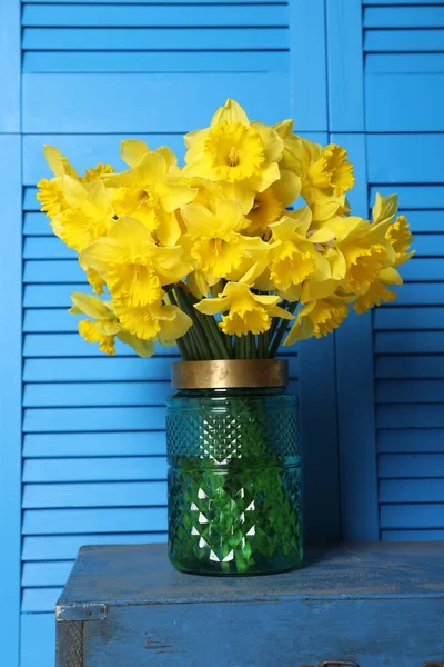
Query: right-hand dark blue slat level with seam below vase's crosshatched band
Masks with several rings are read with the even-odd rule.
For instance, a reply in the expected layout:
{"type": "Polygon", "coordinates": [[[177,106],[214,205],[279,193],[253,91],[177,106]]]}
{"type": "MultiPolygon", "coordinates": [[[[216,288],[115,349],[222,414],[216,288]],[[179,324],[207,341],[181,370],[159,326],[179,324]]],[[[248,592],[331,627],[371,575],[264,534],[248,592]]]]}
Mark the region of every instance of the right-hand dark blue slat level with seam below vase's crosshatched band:
{"type": "Polygon", "coordinates": [[[444,477],[444,454],[380,454],[377,458],[381,479],[444,477]]]}

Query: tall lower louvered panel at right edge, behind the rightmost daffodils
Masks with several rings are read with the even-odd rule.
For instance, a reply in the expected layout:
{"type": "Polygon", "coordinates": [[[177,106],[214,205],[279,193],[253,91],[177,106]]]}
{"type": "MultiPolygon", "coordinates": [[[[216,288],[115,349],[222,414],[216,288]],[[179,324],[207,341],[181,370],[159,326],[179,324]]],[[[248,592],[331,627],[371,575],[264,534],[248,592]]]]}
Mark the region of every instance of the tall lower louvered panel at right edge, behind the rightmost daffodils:
{"type": "MultiPolygon", "coordinates": [[[[376,29],[384,17],[413,20],[406,7],[392,8],[393,12],[387,9],[369,10],[367,28],[376,29]]],[[[443,8],[428,9],[423,23],[442,21],[443,8]]],[[[412,80],[415,74],[406,79],[408,83],[412,80]]],[[[425,109],[426,101],[421,103],[425,109]]],[[[414,130],[415,119],[410,112],[405,117],[403,129],[414,130]]],[[[384,540],[442,539],[444,530],[442,147],[442,133],[367,137],[371,199],[376,191],[398,192],[401,210],[415,232],[416,250],[401,268],[405,285],[398,299],[373,313],[380,528],[384,540]]]]}

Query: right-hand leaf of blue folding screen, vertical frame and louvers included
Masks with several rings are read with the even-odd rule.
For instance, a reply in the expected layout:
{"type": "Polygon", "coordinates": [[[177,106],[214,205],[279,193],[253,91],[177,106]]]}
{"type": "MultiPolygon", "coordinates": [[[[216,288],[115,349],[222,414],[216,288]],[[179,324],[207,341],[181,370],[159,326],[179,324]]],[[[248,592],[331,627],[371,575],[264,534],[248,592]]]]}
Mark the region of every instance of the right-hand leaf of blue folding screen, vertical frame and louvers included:
{"type": "Polygon", "coordinates": [[[336,334],[344,539],[444,538],[444,7],[326,2],[331,138],[352,201],[397,191],[416,236],[393,303],[336,334]]]}

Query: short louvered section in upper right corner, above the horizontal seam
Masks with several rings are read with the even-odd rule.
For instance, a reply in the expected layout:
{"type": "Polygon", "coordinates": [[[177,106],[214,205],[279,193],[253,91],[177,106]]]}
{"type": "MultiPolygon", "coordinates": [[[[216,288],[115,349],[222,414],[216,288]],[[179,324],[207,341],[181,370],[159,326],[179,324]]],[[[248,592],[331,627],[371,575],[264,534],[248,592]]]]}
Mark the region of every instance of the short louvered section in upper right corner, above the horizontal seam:
{"type": "Polygon", "coordinates": [[[443,131],[444,8],[365,4],[363,29],[367,130],[443,131]]]}

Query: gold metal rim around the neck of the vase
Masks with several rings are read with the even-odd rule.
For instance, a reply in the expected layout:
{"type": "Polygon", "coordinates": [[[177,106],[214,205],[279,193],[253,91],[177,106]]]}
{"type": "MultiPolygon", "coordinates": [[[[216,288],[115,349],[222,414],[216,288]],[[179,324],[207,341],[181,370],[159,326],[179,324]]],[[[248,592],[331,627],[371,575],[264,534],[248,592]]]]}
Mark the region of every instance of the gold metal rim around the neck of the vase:
{"type": "Polygon", "coordinates": [[[175,361],[171,366],[175,389],[286,387],[289,384],[289,362],[284,359],[175,361]]]}

